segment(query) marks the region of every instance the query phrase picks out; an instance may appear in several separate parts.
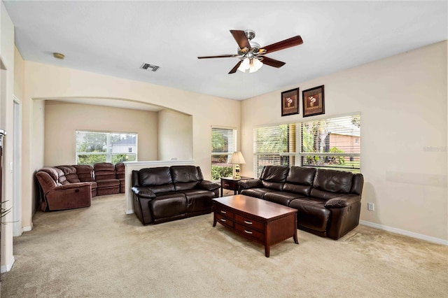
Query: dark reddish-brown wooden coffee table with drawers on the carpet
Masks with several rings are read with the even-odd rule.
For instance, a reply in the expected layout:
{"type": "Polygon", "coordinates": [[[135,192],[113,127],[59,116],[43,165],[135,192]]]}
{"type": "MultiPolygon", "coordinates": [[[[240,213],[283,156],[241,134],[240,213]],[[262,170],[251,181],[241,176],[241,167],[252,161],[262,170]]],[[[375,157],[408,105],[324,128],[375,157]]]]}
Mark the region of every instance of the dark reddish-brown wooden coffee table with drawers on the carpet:
{"type": "Polygon", "coordinates": [[[213,226],[220,222],[224,227],[265,245],[269,248],[290,237],[297,241],[297,210],[280,204],[237,194],[214,199],[213,226]]]}

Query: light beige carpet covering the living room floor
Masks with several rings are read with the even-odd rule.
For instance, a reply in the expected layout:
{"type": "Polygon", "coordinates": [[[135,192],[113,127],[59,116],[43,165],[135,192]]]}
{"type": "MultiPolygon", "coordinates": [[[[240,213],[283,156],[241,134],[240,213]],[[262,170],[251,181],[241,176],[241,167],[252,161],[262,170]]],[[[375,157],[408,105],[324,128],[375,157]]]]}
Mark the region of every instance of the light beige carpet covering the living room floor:
{"type": "Polygon", "coordinates": [[[359,226],[298,230],[270,257],[213,215],[143,226],[122,194],[37,213],[14,239],[1,297],[447,297],[448,248],[359,226]]]}

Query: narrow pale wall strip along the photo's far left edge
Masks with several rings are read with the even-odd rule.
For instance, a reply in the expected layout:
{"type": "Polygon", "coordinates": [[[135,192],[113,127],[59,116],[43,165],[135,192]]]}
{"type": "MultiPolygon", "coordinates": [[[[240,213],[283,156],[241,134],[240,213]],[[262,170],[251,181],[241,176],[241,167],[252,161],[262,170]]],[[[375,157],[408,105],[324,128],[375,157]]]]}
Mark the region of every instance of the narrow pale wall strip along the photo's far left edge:
{"type": "MultiPolygon", "coordinates": [[[[1,185],[1,199],[6,201],[2,208],[14,208],[13,172],[10,164],[13,162],[13,92],[14,92],[14,25],[8,12],[0,2],[0,128],[6,131],[3,143],[3,172],[1,185]]],[[[8,213],[3,222],[13,221],[13,212],[8,213]]],[[[13,225],[1,227],[1,272],[10,270],[14,263],[13,256],[13,225]]]]}

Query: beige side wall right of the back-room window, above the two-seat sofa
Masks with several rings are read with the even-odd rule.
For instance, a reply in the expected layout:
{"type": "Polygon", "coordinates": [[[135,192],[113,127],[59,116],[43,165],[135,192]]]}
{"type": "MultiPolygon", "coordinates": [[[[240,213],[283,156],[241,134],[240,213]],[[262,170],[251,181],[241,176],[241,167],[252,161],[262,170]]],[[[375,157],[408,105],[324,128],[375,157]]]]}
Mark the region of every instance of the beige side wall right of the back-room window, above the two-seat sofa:
{"type": "Polygon", "coordinates": [[[159,160],[193,158],[193,118],[169,110],[159,112],[159,160]]]}

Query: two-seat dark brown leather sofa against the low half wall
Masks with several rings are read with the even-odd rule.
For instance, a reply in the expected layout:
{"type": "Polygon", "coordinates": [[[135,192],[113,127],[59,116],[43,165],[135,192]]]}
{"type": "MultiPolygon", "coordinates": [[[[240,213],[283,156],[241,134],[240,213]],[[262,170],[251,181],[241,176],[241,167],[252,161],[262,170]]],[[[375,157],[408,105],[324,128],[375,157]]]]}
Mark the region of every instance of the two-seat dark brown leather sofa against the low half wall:
{"type": "Polygon", "coordinates": [[[144,225],[211,213],[219,187],[204,180],[199,166],[132,171],[134,213],[144,225]]]}

